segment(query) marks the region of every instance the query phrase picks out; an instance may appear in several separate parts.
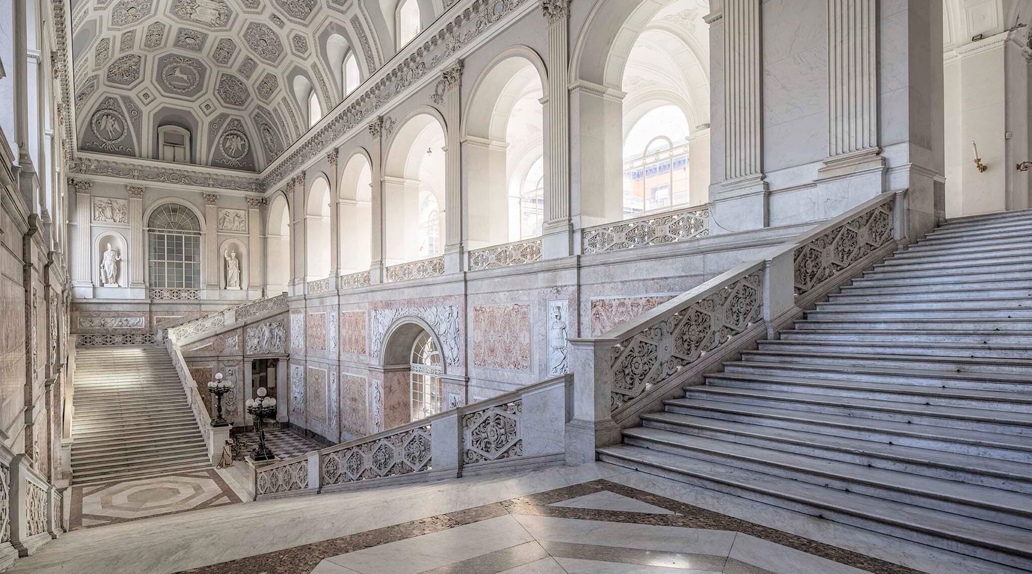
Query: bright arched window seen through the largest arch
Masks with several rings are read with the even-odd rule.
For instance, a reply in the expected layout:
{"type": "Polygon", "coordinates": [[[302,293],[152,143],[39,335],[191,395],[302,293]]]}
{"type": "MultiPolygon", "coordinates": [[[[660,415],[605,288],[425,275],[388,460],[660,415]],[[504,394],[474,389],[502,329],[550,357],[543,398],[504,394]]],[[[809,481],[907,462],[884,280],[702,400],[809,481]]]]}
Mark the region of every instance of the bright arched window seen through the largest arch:
{"type": "Polygon", "coordinates": [[[688,203],[688,128],[673,105],[638,121],[624,141],[623,215],[636,217],[688,203]]]}

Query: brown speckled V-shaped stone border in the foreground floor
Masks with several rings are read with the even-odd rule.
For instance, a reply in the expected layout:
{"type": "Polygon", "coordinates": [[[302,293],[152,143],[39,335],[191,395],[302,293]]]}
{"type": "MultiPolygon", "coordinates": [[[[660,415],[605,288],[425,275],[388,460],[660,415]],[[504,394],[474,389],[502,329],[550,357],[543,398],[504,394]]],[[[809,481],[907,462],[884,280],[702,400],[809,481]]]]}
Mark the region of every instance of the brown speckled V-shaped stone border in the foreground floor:
{"type": "Polygon", "coordinates": [[[606,479],[592,480],[590,482],[518,497],[503,502],[476,506],[456,512],[439,514],[437,516],[401,522],[338,538],[302,544],[283,550],[184,570],[179,574],[309,574],[320,562],[327,558],[441,532],[506,514],[527,514],[581,520],[605,520],[610,522],[734,531],[832,562],[866,570],[872,574],[927,574],[920,570],[781,532],[741,518],[720,514],[719,512],[678,502],[606,479]],[[603,491],[609,491],[665,508],[674,512],[674,514],[548,506],[552,503],[603,491]]]}

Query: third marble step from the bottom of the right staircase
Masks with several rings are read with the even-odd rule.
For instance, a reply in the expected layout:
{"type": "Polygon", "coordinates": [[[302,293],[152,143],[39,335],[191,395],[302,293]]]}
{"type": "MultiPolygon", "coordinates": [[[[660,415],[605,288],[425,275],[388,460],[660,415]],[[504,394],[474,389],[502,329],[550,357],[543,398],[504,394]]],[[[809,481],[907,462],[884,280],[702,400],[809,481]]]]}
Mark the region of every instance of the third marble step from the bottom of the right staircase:
{"type": "Polygon", "coordinates": [[[655,412],[647,428],[1032,494],[1032,465],[719,418],[655,412]]]}

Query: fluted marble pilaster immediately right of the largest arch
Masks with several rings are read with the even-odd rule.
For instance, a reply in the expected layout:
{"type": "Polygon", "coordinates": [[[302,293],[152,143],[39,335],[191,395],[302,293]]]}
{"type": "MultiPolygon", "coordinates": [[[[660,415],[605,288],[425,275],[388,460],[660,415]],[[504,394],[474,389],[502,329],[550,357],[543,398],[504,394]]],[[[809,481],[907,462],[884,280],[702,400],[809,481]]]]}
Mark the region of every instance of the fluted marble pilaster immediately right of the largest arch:
{"type": "Polygon", "coordinates": [[[715,225],[710,234],[763,228],[768,224],[769,191],[762,148],[761,11],[756,0],[725,0],[722,12],[706,19],[710,23],[711,46],[720,50],[723,65],[723,101],[719,110],[723,114],[723,173],[719,184],[710,190],[710,199],[715,203],[715,225]],[[717,42],[719,45],[714,46],[717,42]]]}

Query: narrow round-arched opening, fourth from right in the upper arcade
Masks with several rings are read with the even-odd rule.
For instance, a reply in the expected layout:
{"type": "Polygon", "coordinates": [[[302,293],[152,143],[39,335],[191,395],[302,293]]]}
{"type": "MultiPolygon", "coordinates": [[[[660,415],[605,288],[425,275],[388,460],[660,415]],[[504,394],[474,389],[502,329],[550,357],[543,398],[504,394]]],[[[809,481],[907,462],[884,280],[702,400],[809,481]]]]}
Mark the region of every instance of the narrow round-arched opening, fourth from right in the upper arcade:
{"type": "Polygon", "coordinates": [[[373,169],[363,153],[355,153],[341,175],[340,226],[341,273],[369,268],[373,260],[373,169]]]}

